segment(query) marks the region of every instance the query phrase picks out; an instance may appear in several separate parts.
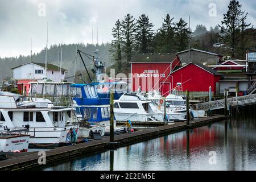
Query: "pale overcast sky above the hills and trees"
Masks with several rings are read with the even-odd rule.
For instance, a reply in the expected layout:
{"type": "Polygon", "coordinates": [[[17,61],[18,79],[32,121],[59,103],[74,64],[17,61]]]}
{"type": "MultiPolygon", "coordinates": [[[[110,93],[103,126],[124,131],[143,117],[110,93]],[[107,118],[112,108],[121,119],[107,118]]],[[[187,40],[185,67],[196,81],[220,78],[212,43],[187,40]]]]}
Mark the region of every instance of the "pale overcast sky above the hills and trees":
{"type": "MultiPolygon", "coordinates": [[[[55,43],[99,43],[112,40],[111,30],[117,19],[127,13],[134,18],[149,16],[155,29],[162,25],[168,13],[188,22],[191,28],[204,24],[208,29],[220,23],[228,10],[229,0],[0,0],[0,57],[29,55],[46,46],[47,21],[49,45],[55,43]],[[44,5],[45,10],[44,11],[44,5]],[[216,5],[216,11],[214,9],[216,5]]],[[[240,0],[243,10],[249,13],[247,22],[256,24],[256,1],[240,0]]]]}

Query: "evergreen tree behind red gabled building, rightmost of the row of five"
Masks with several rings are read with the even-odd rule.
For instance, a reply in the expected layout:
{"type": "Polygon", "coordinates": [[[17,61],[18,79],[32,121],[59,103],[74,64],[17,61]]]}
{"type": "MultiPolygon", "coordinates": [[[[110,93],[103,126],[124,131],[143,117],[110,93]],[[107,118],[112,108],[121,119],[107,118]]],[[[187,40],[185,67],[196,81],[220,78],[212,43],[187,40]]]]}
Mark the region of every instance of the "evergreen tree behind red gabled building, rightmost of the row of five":
{"type": "Polygon", "coordinates": [[[192,32],[187,27],[188,23],[180,18],[179,22],[175,23],[175,39],[177,51],[184,51],[188,48],[188,43],[192,32]]]}

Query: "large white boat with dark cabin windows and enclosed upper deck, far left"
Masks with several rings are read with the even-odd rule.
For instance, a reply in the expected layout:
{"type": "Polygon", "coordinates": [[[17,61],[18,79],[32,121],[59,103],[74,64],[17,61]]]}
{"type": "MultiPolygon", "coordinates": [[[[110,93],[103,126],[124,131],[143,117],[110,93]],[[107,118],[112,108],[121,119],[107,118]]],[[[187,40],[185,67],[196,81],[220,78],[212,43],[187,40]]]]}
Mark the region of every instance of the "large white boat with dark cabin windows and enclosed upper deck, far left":
{"type": "Polygon", "coordinates": [[[56,147],[79,125],[68,82],[31,82],[30,96],[0,96],[0,131],[28,126],[30,147],[56,147]]]}

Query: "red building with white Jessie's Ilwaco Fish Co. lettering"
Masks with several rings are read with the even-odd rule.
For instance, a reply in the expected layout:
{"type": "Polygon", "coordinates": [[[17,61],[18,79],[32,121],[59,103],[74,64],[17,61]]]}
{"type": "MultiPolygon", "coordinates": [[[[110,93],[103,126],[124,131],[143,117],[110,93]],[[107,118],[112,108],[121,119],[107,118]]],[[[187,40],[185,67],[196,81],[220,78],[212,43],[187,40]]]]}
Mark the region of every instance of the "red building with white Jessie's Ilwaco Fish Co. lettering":
{"type": "Polygon", "coordinates": [[[131,90],[142,92],[160,90],[167,96],[171,90],[170,73],[180,66],[176,53],[145,53],[133,56],[131,60],[131,90]]]}

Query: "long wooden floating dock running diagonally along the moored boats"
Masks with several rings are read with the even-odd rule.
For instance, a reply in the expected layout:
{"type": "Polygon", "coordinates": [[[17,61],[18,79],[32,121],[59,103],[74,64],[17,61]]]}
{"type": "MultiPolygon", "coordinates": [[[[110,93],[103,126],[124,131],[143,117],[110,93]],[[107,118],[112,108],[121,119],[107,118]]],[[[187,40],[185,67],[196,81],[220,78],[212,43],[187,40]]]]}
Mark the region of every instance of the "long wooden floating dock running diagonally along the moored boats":
{"type": "MultiPolygon", "coordinates": [[[[131,134],[121,134],[114,137],[114,147],[127,146],[129,144],[142,142],[144,140],[157,138],[166,134],[176,133],[179,131],[192,129],[195,127],[205,126],[209,123],[224,119],[224,115],[214,115],[208,118],[200,118],[190,122],[187,126],[186,122],[175,122],[173,125],[159,126],[155,128],[136,131],[131,134]]],[[[73,158],[81,155],[91,155],[96,152],[108,150],[110,148],[109,137],[104,137],[101,140],[92,140],[86,143],[76,144],[75,146],[59,147],[46,152],[46,165],[60,160],[73,158]]],[[[17,158],[0,161],[1,171],[22,170],[39,167],[38,153],[21,155],[17,158]]]]}

